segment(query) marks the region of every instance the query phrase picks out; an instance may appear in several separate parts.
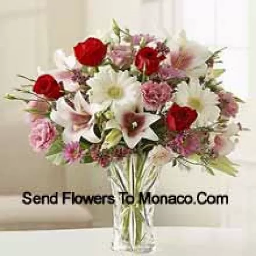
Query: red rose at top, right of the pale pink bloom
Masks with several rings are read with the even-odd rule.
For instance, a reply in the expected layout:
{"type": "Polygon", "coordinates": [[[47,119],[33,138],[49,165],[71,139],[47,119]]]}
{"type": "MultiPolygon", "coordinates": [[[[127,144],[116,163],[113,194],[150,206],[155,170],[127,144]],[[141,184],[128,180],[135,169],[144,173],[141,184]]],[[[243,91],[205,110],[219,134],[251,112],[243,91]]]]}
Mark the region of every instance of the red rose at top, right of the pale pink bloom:
{"type": "Polygon", "coordinates": [[[165,58],[166,57],[156,49],[146,46],[138,51],[135,65],[141,72],[143,72],[145,67],[146,75],[151,75],[159,70],[159,64],[165,58]]]}

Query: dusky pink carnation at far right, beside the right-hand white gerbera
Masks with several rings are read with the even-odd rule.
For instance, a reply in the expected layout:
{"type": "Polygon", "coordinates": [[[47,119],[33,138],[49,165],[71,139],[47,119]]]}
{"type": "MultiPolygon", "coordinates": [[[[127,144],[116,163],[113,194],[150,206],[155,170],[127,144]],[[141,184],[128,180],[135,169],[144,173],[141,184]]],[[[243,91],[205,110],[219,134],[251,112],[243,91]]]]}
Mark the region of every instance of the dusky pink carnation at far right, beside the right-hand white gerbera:
{"type": "Polygon", "coordinates": [[[221,115],[225,117],[236,117],[238,113],[238,103],[232,93],[221,91],[218,93],[221,115]]]}

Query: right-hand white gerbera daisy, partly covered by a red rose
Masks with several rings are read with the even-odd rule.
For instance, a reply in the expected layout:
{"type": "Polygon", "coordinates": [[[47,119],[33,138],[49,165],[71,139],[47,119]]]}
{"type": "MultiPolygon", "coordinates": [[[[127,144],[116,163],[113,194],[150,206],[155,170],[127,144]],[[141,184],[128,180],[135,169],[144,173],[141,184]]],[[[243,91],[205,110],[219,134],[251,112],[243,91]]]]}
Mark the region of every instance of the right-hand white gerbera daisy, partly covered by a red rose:
{"type": "Polygon", "coordinates": [[[190,83],[178,84],[174,102],[180,106],[189,106],[197,111],[195,126],[205,126],[214,123],[219,114],[218,96],[209,88],[203,88],[198,79],[190,79],[190,83]]]}

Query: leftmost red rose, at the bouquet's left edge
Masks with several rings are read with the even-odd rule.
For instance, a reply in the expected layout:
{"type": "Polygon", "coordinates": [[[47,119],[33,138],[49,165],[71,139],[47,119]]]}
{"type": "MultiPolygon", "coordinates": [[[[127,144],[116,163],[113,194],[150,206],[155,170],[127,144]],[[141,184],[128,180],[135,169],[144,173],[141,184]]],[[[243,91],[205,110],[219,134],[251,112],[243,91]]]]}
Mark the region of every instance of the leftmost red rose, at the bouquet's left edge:
{"type": "Polygon", "coordinates": [[[63,88],[51,75],[41,75],[33,86],[33,92],[44,95],[49,99],[58,99],[63,96],[63,88]]]}

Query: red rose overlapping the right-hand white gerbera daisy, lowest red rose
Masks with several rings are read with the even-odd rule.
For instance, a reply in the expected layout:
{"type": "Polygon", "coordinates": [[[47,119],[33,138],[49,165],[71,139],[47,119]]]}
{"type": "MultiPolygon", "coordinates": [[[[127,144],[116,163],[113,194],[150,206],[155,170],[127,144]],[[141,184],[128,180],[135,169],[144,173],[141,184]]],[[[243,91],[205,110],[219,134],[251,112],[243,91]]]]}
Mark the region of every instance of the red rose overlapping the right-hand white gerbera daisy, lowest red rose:
{"type": "Polygon", "coordinates": [[[167,113],[167,126],[170,131],[183,131],[196,120],[197,112],[188,106],[173,104],[167,113]]]}

